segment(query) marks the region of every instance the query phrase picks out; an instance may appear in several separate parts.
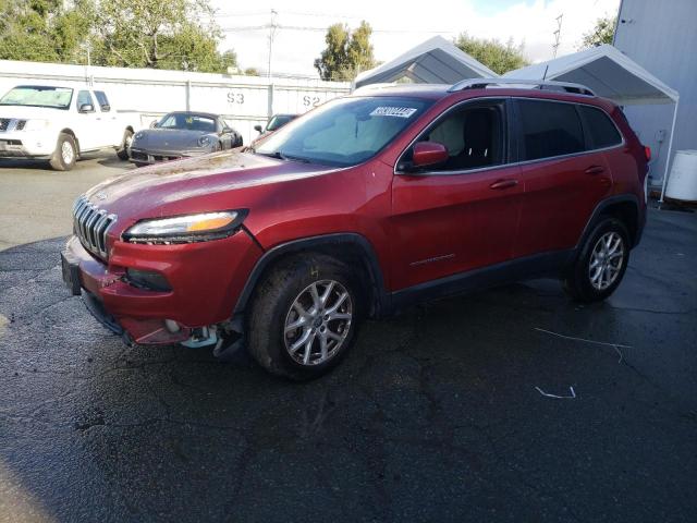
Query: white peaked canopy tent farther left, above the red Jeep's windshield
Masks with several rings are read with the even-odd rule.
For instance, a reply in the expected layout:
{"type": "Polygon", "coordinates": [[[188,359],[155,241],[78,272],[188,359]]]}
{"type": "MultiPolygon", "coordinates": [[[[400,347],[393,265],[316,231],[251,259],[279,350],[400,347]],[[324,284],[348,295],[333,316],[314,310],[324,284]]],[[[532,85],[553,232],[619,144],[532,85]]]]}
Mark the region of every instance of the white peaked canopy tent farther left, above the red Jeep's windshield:
{"type": "Polygon", "coordinates": [[[358,74],[355,87],[398,82],[405,77],[418,84],[454,84],[465,78],[497,76],[442,36],[435,36],[394,60],[358,74]]]}

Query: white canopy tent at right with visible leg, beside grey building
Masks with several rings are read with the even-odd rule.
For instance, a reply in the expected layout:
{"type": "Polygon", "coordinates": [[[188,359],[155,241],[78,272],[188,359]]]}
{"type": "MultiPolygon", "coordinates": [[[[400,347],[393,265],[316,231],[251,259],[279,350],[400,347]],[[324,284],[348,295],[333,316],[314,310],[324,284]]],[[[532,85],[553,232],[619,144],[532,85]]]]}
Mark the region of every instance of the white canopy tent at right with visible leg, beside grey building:
{"type": "Polygon", "coordinates": [[[668,144],[668,161],[663,173],[661,202],[668,181],[673,149],[673,133],[677,118],[678,93],[658,80],[634,60],[614,47],[603,44],[547,62],[509,71],[508,78],[555,80],[586,85],[598,96],[621,106],[674,104],[673,123],[668,144]]]}

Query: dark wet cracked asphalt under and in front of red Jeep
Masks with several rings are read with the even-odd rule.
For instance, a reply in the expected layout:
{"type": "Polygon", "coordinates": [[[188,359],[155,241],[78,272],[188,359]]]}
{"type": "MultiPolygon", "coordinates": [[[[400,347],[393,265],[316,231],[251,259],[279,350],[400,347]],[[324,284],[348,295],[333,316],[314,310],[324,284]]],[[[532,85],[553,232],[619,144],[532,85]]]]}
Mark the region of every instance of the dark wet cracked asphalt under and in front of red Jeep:
{"type": "Polygon", "coordinates": [[[695,215],[651,210],[607,303],[536,280],[419,306],[304,385],[125,348],[68,296],[63,241],[0,253],[0,522],[697,513],[695,215]]]}

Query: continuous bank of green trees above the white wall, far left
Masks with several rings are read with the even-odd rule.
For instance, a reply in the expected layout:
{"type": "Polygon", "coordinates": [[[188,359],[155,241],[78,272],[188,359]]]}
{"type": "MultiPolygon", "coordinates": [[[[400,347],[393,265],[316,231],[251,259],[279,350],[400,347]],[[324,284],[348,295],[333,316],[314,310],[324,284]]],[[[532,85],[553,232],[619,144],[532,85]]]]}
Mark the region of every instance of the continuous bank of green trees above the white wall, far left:
{"type": "Polygon", "coordinates": [[[0,0],[0,59],[224,73],[210,0],[0,0]],[[205,22],[208,21],[208,22],[205,22]]]}

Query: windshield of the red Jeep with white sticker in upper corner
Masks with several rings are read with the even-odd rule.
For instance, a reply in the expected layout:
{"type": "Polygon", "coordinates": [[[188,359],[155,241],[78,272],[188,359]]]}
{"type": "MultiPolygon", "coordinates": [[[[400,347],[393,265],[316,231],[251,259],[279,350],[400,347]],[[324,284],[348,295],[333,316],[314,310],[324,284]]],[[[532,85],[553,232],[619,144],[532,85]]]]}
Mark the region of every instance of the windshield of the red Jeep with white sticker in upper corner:
{"type": "Polygon", "coordinates": [[[431,104],[402,97],[338,98],[284,125],[256,153],[355,166],[375,156],[431,104]]]}

